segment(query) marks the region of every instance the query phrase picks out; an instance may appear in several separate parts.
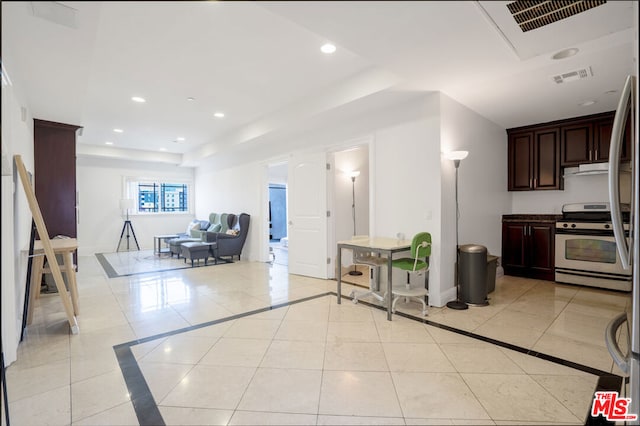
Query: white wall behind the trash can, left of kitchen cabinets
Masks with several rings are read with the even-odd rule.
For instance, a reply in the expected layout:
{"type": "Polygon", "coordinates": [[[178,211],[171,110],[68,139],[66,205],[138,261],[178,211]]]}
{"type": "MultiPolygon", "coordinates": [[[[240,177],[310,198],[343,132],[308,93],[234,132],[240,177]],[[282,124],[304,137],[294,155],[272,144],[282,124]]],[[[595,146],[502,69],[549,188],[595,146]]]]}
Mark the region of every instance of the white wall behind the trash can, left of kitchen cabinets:
{"type": "MultiPolygon", "coordinates": [[[[458,169],[460,245],[480,244],[501,255],[502,215],[511,212],[507,192],[507,135],[505,129],[442,94],[442,152],[464,150],[469,156],[458,169]]],[[[442,160],[443,302],[455,298],[455,167],[442,160]],[[445,300],[446,299],[446,300],[445,300]]]]}

